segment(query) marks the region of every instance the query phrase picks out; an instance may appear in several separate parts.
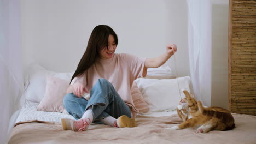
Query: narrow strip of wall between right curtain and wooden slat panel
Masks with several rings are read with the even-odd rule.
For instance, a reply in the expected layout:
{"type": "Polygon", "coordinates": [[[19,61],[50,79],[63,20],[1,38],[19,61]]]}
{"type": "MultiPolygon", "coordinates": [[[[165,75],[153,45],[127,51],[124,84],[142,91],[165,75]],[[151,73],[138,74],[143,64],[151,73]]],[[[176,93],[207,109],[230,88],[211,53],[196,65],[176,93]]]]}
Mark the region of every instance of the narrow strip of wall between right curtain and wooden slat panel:
{"type": "Polygon", "coordinates": [[[228,108],[229,5],[212,5],[212,106],[228,108]]]}

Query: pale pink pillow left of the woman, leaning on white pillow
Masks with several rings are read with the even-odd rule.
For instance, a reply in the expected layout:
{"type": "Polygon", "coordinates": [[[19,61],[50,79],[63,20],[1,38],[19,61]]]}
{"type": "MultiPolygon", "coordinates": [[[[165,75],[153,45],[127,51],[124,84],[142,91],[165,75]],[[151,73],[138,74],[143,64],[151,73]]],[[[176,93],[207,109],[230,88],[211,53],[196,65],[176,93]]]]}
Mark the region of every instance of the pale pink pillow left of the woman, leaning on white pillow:
{"type": "Polygon", "coordinates": [[[47,77],[43,99],[37,106],[38,111],[63,112],[62,99],[66,95],[69,82],[56,77],[47,77]]]}

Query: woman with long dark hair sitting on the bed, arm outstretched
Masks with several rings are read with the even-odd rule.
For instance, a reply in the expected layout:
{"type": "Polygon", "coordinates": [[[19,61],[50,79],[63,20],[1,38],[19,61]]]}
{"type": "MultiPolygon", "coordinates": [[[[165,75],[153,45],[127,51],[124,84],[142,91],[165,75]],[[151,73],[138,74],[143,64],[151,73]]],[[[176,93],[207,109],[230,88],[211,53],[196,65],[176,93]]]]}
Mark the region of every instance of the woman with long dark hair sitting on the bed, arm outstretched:
{"type": "Polygon", "coordinates": [[[63,98],[63,105],[76,121],[61,119],[65,130],[83,131],[92,122],[112,127],[136,127],[136,109],[131,97],[132,83],[144,77],[147,68],[157,68],[177,51],[175,44],[156,58],[139,58],[125,53],[115,54],[117,34],[106,25],[94,28],[87,49],[63,98]],[[86,100],[84,92],[90,93],[86,100]]]}

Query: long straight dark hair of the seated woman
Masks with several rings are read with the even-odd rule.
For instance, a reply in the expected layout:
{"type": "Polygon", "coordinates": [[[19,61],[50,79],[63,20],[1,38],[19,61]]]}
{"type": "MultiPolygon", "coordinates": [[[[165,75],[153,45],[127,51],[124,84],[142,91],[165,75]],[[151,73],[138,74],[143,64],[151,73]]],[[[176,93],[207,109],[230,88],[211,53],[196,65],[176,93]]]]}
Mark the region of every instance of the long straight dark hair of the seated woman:
{"type": "Polygon", "coordinates": [[[87,44],[86,51],[81,58],[77,70],[75,70],[74,75],[71,78],[70,83],[74,77],[83,75],[86,70],[88,70],[92,64],[94,64],[96,58],[99,58],[99,52],[104,47],[108,47],[108,37],[113,35],[115,39],[115,44],[118,45],[118,37],[114,30],[107,25],[98,25],[92,30],[90,39],[87,44]]]}

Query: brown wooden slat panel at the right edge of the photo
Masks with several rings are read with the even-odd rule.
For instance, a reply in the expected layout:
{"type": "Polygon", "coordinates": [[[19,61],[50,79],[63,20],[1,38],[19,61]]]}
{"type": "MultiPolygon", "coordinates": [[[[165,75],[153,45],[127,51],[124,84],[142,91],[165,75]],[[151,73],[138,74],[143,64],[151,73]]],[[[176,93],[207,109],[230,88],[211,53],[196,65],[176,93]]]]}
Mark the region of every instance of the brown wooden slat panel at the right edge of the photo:
{"type": "Polygon", "coordinates": [[[229,1],[229,110],[256,115],[256,1],[229,1]]]}

